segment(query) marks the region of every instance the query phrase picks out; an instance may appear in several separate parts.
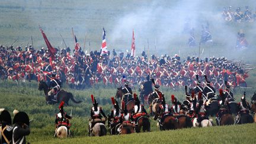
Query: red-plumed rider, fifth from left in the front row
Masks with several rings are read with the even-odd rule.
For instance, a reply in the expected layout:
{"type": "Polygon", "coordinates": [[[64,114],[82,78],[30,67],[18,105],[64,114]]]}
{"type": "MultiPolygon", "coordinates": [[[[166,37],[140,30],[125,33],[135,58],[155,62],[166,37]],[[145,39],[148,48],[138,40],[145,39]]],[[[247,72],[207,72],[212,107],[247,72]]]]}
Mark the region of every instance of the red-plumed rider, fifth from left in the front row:
{"type": "Polygon", "coordinates": [[[140,104],[139,98],[137,97],[136,94],[133,94],[133,97],[135,99],[135,106],[133,108],[133,119],[135,120],[135,126],[137,126],[137,121],[140,119],[142,116],[148,116],[148,113],[146,112],[144,106],[140,104]]]}

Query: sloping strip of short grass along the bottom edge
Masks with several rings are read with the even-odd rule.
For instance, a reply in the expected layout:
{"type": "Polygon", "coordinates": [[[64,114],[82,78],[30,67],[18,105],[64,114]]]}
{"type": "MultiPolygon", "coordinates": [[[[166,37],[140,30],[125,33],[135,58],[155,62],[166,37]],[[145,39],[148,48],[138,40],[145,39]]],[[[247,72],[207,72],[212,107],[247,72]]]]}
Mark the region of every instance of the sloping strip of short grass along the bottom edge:
{"type": "Polygon", "coordinates": [[[122,136],[55,139],[37,143],[255,143],[256,124],[135,133],[122,136]]]}

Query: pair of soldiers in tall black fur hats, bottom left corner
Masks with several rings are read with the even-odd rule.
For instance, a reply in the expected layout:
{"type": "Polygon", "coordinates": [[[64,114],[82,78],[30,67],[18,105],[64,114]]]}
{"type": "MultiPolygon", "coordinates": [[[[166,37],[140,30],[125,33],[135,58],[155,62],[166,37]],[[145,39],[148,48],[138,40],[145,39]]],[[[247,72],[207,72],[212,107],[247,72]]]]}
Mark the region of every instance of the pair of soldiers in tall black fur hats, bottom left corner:
{"type": "Polygon", "coordinates": [[[0,143],[26,143],[25,136],[30,135],[30,120],[23,111],[14,110],[14,119],[4,108],[0,108],[0,143]]]}

